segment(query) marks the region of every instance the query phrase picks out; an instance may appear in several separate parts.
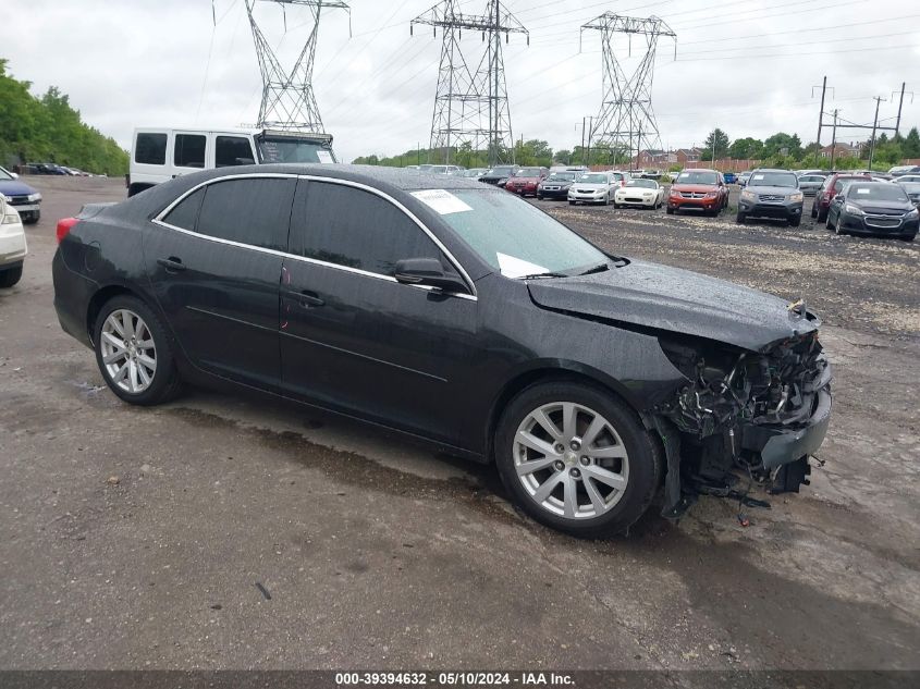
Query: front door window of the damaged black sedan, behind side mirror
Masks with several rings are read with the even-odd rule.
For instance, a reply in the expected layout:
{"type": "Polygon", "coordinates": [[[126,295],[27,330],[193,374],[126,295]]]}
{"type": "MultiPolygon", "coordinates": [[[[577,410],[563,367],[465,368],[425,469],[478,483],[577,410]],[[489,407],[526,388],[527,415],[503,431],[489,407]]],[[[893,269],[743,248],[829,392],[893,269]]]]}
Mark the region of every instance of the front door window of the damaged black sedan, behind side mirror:
{"type": "Polygon", "coordinates": [[[405,258],[437,258],[451,270],[431,237],[393,204],[326,182],[310,182],[306,202],[295,209],[291,251],[381,275],[392,276],[405,258]]]}

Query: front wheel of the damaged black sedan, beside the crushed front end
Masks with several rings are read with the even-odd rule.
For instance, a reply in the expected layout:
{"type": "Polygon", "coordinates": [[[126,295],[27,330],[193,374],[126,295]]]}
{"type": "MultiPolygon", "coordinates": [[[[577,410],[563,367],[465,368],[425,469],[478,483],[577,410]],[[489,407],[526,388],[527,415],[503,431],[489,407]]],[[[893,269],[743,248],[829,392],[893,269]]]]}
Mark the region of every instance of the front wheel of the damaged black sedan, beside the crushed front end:
{"type": "Polygon", "coordinates": [[[528,515],[586,538],[628,529],[648,509],[662,468],[658,443],[631,409],[571,382],[531,385],[508,404],[495,463],[528,515]]]}

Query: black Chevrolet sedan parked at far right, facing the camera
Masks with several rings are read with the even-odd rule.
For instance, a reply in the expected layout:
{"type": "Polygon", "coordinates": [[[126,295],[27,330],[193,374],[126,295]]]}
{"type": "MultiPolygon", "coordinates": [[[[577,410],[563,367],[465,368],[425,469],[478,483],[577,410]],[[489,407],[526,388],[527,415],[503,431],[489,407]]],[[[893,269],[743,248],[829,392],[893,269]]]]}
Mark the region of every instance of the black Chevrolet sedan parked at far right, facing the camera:
{"type": "Polygon", "coordinates": [[[878,234],[912,242],[918,227],[920,210],[901,185],[891,182],[851,182],[827,208],[827,230],[837,234],[878,234]]]}

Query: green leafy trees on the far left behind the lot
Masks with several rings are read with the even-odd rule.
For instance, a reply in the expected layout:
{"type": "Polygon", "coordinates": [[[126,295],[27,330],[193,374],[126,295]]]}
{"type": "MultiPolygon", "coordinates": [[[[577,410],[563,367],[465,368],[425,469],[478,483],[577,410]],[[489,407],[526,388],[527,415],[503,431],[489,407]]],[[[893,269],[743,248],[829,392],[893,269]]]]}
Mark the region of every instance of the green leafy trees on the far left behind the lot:
{"type": "Polygon", "coordinates": [[[66,95],[52,86],[37,97],[30,88],[9,74],[0,58],[0,164],[53,162],[96,174],[127,172],[127,151],[85,124],[66,95]]]}

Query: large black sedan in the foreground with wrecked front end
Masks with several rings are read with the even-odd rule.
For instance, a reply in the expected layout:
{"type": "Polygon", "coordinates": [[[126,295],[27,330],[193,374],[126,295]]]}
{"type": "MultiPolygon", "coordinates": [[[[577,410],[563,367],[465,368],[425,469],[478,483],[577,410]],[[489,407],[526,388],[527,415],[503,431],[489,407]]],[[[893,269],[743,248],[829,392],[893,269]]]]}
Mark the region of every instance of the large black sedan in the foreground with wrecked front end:
{"type": "Polygon", "coordinates": [[[123,401],[284,397],[494,462],[536,519],[626,529],[733,469],[798,490],[831,410],[799,302],[612,256],[455,176],[183,175],[58,225],[54,307],[123,401]],[[704,478],[703,478],[704,477],[704,478]]]}

